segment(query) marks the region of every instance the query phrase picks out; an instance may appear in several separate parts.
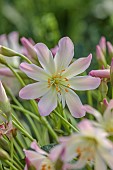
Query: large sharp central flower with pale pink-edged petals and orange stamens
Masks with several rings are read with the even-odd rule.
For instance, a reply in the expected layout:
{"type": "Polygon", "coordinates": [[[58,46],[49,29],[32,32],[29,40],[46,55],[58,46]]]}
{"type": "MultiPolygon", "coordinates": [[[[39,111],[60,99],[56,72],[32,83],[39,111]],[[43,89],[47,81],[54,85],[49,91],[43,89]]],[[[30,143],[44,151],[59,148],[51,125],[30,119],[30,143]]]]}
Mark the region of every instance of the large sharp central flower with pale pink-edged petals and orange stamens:
{"type": "Polygon", "coordinates": [[[91,90],[99,86],[99,78],[77,76],[89,67],[92,55],[80,58],[69,65],[74,55],[74,45],[68,37],[59,41],[59,49],[54,58],[45,44],[38,43],[35,49],[43,68],[28,63],[20,65],[20,69],[28,77],[38,81],[24,87],[19,93],[20,97],[23,99],[42,97],[38,103],[42,116],[49,115],[57,107],[58,100],[62,101],[63,107],[66,102],[74,117],[84,116],[82,103],[74,90],[91,90]]]}

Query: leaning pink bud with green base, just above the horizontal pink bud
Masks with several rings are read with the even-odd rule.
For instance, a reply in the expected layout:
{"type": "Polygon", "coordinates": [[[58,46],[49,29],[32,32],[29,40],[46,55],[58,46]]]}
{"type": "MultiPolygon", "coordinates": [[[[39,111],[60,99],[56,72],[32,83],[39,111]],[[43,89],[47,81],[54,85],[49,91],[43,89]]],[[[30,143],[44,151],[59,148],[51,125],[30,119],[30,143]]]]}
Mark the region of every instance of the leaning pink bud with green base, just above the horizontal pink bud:
{"type": "Polygon", "coordinates": [[[100,65],[106,66],[106,59],[99,45],[96,46],[96,57],[100,65]]]}

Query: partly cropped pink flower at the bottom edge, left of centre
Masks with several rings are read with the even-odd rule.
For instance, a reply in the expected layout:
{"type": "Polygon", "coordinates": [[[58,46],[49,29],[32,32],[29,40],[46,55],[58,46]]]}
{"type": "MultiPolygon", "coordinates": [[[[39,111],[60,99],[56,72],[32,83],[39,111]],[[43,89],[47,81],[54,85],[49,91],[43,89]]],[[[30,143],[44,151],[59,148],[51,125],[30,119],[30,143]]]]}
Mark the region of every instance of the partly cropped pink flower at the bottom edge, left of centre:
{"type": "Polygon", "coordinates": [[[48,153],[38,147],[36,142],[31,143],[33,150],[24,150],[26,166],[24,170],[55,170],[54,163],[48,158],[48,153]]]}

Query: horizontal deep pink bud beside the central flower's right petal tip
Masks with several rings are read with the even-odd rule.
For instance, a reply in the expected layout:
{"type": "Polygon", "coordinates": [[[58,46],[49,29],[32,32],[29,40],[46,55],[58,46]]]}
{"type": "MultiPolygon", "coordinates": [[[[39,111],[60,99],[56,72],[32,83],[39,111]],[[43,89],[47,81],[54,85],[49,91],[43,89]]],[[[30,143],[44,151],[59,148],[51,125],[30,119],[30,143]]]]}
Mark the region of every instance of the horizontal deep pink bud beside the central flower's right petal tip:
{"type": "Polygon", "coordinates": [[[92,70],[89,72],[89,75],[92,77],[110,78],[110,69],[92,70]]]}

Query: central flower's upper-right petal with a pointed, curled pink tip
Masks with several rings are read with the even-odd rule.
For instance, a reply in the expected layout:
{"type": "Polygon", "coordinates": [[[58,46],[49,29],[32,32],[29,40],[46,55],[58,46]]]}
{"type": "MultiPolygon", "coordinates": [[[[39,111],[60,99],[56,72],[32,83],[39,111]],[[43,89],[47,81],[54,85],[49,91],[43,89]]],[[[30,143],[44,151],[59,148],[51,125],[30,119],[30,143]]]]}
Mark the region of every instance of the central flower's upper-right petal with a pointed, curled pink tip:
{"type": "Polygon", "coordinates": [[[63,77],[72,78],[84,72],[89,67],[91,59],[92,54],[90,54],[88,57],[77,59],[63,72],[63,77]]]}

